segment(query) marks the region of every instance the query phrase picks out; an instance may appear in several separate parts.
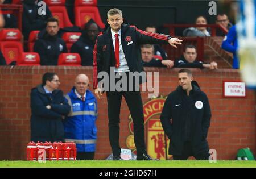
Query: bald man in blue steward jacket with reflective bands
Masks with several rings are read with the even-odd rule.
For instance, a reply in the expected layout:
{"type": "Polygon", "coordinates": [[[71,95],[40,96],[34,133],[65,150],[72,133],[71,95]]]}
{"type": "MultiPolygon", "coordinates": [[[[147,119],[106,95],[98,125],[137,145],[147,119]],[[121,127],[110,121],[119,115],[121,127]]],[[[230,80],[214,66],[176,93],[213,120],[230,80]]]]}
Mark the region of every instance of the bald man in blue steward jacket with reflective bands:
{"type": "Polygon", "coordinates": [[[64,120],[65,141],[75,141],[77,160],[93,160],[97,139],[97,101],[88,90],[89,79],[79,74],[75,86],[65,95],[71,113],[64,120]]]}

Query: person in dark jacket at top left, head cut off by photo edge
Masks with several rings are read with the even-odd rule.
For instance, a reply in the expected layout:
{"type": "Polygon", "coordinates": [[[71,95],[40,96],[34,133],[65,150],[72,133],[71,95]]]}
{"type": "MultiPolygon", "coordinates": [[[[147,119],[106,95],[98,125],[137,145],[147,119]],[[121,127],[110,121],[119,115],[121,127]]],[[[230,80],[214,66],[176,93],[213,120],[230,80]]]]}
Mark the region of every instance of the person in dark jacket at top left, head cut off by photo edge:
{"type": "Polygon", "coordinates": [[[46,27],[46,21],[52,16],[48,6],[46,12],[39,13],[38,0],[24,0],[22,14],[22,33],[24,40],[28,39],[31,31],[42,30],[46,27]]]}

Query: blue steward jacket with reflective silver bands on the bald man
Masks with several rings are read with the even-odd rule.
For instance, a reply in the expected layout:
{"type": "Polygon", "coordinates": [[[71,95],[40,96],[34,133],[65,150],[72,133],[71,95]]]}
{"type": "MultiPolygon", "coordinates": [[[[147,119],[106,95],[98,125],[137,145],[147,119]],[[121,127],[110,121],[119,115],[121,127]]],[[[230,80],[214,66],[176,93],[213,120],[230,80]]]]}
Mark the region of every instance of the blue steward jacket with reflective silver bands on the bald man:
{"type": "Polygon", "coordinates": [[[85,101],[77,97],[75,87],[65,95],[71,113],[64,120],[65,141],[75,141],[77,152],[94,152],[97,139],[97,101],[91,91],[86,90],[85,101]]]}

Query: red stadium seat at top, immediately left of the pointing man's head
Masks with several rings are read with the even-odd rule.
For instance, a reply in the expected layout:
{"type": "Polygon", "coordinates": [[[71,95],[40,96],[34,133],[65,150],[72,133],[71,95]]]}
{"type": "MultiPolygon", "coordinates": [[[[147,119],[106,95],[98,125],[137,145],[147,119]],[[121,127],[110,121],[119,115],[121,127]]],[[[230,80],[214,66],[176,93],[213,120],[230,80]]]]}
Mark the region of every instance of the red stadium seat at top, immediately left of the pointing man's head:
{"type": "Polygon", "coordinates": [[[104,28],[105,24],[101,20],[100,12],[97,7],[97,0],[76,0],[75,1],[75,24],[76,26],[84,28],[84,24],[86,24],[91,18],[100,26],[100,28],[104,28]]]}

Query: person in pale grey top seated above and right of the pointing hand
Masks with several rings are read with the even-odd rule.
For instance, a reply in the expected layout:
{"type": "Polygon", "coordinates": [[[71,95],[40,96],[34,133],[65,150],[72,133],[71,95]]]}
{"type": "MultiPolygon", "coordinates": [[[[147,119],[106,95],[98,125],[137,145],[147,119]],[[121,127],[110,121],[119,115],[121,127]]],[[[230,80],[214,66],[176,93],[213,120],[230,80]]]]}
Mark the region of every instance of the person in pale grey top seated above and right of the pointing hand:
{"type": "MultiPolygon", "coordinates": [[[[196,24],[197,25],[206,25],[207,24],[207,19],[204,16],[198,16],[196,18],[196,24]]],[[[183,36],[186,37],[193,37],[193,36],[198,36],[198,37],[206,37],[210,36],[210,33],[207,31],[206,27],[189,27],[186,28],[183,31],[183,36]]]]}

